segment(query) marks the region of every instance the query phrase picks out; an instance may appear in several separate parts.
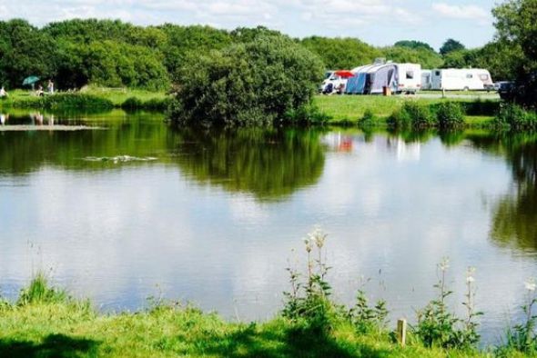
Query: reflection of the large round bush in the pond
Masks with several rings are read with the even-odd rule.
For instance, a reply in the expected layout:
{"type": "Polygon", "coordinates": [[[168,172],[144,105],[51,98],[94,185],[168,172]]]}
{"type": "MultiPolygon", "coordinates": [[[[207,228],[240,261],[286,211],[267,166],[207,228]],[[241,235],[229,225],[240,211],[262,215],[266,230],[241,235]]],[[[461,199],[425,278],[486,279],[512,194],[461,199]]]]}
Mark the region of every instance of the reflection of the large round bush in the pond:
{"type": "Polygon", "coordinates": [[[281,199],[317,183],[326,148],[317,130],[180,129],[168,136],[184,174],[260,200],[281,199]]]}

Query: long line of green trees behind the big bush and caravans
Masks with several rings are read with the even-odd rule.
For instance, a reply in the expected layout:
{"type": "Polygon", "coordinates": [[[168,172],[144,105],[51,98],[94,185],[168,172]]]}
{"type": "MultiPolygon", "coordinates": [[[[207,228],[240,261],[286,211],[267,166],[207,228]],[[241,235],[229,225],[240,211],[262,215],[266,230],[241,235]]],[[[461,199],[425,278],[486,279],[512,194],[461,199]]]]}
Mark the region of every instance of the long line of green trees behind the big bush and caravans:
{"type": "Polygon", "coordinates": [[[293,41],[318,55],[326,69],[350,69],[385,57],[423,68],[486,67],[493,78],[513,79],[523,57],[521,45],[502,38],[477,49],[450,39],[436,52],[431,45],[410,40],[375,47],[350,37],[292,39],[262,26],[227,31],[202,25],[137,26],[119,20],[73,19],[38,28],[13,19],[0,22],[0,84],[20,87],[26,76],[37,75],[55,79],[62,89],[93,84],[165,90],[193,55],[247,44],[258,35],[293,41]]]}

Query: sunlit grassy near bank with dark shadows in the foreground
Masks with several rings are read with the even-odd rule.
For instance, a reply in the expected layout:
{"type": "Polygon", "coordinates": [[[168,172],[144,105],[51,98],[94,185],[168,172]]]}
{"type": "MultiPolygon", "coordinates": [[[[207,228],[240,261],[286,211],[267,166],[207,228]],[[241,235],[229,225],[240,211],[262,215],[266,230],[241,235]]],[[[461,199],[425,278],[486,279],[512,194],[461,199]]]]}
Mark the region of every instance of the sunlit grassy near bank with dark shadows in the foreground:
{"type": "MultiPolygon", "coordinates": [[[[425,348],[388,331],[358,333],[341,321],[329,333],[277,317],[229,323],[215,313],[159,303],[137,313],[99,314],[38,276],[16,303],[0,303],[0,356],[9,357],[451,357],[473,351],[425,348]]],[[[483,355],[484,356],[484,355],[483,355]]]]}

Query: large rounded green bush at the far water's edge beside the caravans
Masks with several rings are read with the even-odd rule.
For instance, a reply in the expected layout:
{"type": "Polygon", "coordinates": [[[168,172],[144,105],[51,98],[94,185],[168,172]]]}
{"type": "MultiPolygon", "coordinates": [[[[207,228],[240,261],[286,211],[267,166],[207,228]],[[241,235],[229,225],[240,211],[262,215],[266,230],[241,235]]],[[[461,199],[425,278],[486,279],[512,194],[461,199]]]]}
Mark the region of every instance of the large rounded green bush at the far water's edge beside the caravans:
{"type": "Polygon", "coordinates": [[[323,66],[288,37],[260,35],[191,55],[175,75],[170,105],[181,124],[272,124],[310,104],[323,66]]]}

